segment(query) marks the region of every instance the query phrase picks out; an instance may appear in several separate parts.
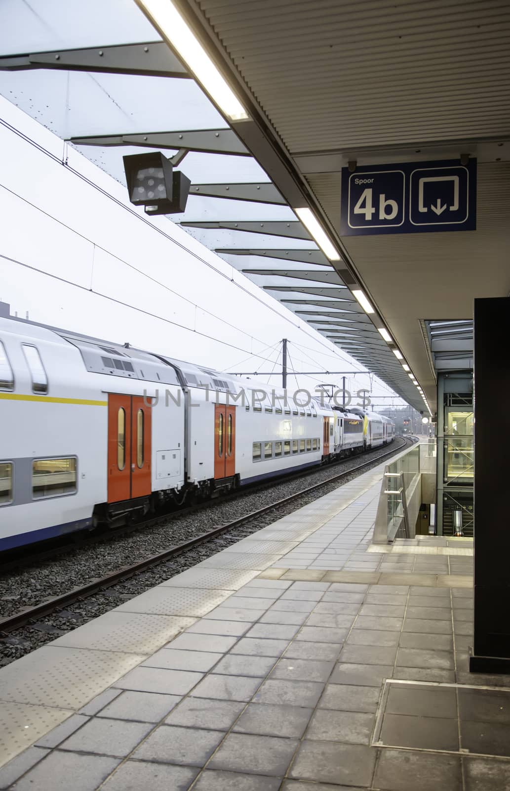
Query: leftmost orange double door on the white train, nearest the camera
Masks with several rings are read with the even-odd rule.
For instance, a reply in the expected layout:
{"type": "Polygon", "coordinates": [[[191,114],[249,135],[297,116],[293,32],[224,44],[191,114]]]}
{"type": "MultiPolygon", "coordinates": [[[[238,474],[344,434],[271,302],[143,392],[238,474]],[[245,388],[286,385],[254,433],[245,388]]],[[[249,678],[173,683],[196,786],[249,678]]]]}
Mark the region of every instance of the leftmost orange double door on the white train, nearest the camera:
{"type": "Polygon", "coordinates": [[[151,494],[151,425],[141,396],[108,394],[108,502],[151,494]]]}

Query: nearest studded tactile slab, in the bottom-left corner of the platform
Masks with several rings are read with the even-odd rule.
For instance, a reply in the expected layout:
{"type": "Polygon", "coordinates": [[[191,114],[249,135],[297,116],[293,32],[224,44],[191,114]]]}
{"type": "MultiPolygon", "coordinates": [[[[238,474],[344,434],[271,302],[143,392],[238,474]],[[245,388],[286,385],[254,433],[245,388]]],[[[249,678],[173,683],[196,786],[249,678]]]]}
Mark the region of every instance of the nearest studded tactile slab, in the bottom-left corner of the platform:
{"type": "Polygon", "coordinates": [[[0,704],[0,766],[33,744],[39,736],[60,725],[72,713],[48,706],[0,704]]]}

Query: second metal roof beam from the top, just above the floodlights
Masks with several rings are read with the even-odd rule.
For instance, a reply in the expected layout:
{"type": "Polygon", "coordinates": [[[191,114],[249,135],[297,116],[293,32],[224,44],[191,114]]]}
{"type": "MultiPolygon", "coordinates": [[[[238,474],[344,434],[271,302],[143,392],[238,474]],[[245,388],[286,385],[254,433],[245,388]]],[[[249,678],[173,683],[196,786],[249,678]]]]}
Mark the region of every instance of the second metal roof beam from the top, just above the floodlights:
{"type": "Polygon", "coordinates": [[[98,134],[69,138],[75,146],[143,146],[144,148],[186,149],[201,153],[234,154],[251,157],[246,146],[231,129],[203,129],[185,132],[145,132],[144,134],[98,134]]]}

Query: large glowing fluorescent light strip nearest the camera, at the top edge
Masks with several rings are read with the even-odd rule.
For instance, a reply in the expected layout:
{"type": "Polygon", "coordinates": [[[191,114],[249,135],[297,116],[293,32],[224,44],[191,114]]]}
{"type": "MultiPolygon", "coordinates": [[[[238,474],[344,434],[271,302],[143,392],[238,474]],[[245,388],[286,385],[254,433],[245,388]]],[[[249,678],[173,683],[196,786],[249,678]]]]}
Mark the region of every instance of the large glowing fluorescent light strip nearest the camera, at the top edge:
{"type": "Polygon", "coordinates": [[[209,58],[199,40],[182,18],[171,0],[139,0],[140,5],[158,25],[163,36],[189,66],[209,96],[232,121],[249,118],[227,81],[209,58]]]}

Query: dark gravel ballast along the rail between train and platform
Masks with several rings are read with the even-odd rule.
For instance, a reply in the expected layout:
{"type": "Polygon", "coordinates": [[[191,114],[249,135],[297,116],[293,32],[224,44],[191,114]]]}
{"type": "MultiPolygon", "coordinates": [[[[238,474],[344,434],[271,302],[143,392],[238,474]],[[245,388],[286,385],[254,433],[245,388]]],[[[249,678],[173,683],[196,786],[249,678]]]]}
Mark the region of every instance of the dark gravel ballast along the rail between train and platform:
{"type": "MultiPolygon", "coordinates": [[[[403,449],[398,443],[395,452],[403,449]]],[[[384,448],[384,453],[388,448],[384,448]]],[[[270,488],[240,494],[238,498],[227,502],[211,503],[207,508],[186,515],[163,517],[157,524],[139,529],[125,535],[110,534],[99,539],[97,543],[65,551],[58,557],[41,562],[32,562],[29,566],[6,573],[0,580],[0,614],[2,618],[21,611],[24,607],[36,604],[69,592],[71,589],[84,585],[96,577],[104,577],[117,571],[122,566],[130,566],[153,554],[167,550],[169,547],[200,536],[221,524],[227,524],[248,513],[257,511],[272,502],[296,494],[308,486],[321,483],[341,472],[357,467],[361,461],[369,462],[362,471],[353,471],[339,483],[332,482],[320,489],[294,499],[288,505],[280,506],[277,512],[270,511],[260,517],[254,517],[238,528],[223,533],[214,539],[202,543],[186,553],[178,555],[166,562],[160,562],[136,576],[119,582],[97,592],[86,599],[70,604],[66,610],[54,612],[36,622],[24,626],[0,639],[0,666],[9,664],[25,653],[54,640],[69,630],[76,629],[89,620],[123,604],[126,600],[159,585],[159,583],[195,566],[205,558],[216,554],[225,547],[231,546],[251,533],[272,524],[276,519],[292,513],[303,505],[322,497],[328,491],[342,486],[349,480],[366,472],[370,467],[380,464],[381,448],[343,460],[339,464],[321,467],[304,477],[286,479],[275,483],[270,488]],[[370,461],[372,460],[372,464],[370,461]]],[[[388,456],[386,457],[388,458],[388,456]]]]}

